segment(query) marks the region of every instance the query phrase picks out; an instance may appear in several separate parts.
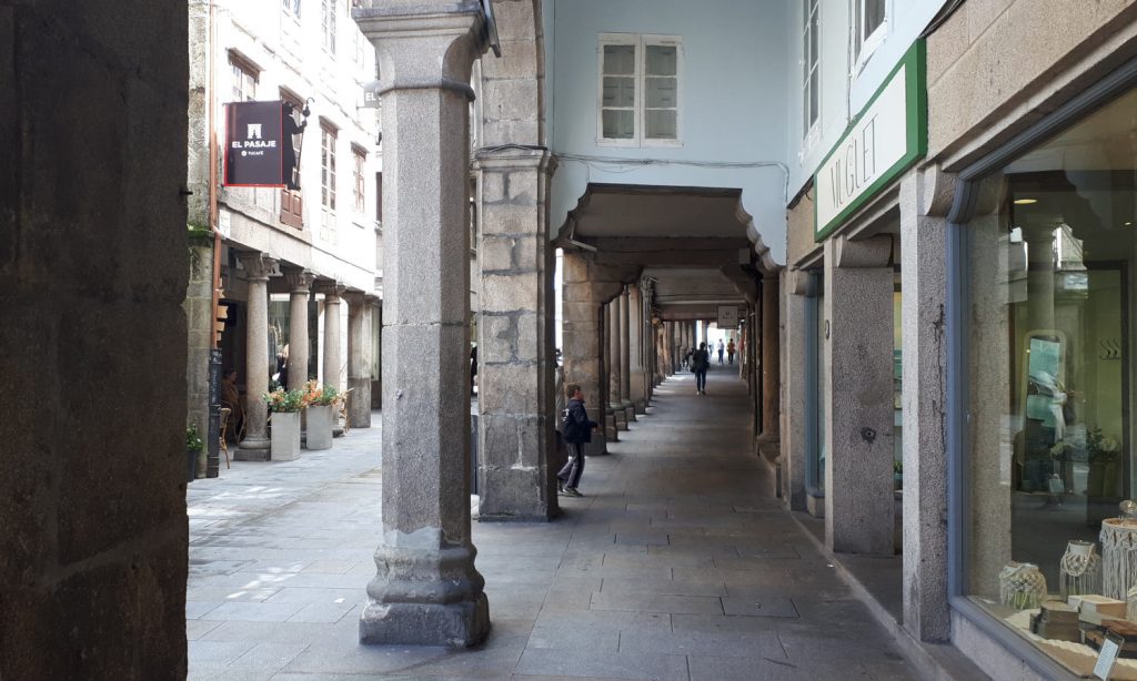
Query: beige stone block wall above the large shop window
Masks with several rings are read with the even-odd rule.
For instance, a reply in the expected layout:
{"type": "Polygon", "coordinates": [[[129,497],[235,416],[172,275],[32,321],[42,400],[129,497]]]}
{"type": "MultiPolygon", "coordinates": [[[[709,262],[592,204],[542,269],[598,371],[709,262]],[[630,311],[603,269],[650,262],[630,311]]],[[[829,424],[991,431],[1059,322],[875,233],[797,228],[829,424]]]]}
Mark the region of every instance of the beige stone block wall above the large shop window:
{"type": "Polygon", "coordinates": [[[1134,0],[964,2],[928,39],[928,158],[956,170],[1137,53],[1134,0]]]}

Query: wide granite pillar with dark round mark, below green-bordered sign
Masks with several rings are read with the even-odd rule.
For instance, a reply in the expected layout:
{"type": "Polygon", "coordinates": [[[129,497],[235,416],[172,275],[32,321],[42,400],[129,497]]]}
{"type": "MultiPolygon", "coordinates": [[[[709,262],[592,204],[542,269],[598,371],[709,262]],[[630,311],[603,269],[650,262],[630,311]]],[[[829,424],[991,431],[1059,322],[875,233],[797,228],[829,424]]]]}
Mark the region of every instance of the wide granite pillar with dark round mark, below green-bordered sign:
{"type": "Polygon", "coordinates": [[[825,242],[825,544],[835,552],[893,555],[891,250],[888,235],[825,242]]]}

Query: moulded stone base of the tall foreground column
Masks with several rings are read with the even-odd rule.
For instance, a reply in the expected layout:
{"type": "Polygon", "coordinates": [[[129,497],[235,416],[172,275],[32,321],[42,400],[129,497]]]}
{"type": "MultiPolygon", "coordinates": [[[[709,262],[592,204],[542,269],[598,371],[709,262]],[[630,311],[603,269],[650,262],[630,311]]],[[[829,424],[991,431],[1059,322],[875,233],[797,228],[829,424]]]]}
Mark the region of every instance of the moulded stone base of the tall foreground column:
{"type": "Polygon", "coordinates": [[[391,548],[375,552],[376,574],[359,615],[365,645],[467,648],[490,631],[484,580],[471,547],[391,548]]]}

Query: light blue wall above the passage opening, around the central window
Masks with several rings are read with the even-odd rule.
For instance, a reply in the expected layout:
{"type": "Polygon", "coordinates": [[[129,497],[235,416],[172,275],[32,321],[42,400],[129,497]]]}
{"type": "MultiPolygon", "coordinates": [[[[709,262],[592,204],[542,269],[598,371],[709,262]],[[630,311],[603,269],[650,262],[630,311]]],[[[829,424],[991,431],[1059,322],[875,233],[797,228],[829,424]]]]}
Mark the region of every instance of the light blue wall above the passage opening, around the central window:
{"type": "Polygon", "coordinates": [[[558,228],[588,183],[740,187],[745,209],[770,253],[785,262],[783,170],[794,73],[786,0],[543,0],[547,111],[553,151],[562,154],[553,180],[551,224],[558,228]],[[599,146],[598,39],[601,33],[678,35],[682,146],[599,146]],[[565,159],[605,157],[612,165],[565,159]],[[620,159],[680,161],[649,167],[620,159]],[[765,162],[713,168],[697,162],[765,162]]]}

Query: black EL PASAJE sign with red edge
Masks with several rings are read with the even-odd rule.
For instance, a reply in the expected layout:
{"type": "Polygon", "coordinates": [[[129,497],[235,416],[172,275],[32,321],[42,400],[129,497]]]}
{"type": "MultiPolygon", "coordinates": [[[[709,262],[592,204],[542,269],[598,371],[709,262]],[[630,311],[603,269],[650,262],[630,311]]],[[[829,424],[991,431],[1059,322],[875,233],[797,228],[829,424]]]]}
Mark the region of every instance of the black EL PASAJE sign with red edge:
{"type": "Polygon", "coordinates": [[[225,104],[225,185],[284,186],[283,128],[279,101],[225,104]]]}

